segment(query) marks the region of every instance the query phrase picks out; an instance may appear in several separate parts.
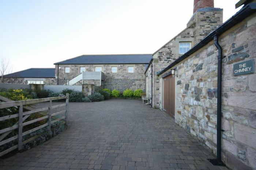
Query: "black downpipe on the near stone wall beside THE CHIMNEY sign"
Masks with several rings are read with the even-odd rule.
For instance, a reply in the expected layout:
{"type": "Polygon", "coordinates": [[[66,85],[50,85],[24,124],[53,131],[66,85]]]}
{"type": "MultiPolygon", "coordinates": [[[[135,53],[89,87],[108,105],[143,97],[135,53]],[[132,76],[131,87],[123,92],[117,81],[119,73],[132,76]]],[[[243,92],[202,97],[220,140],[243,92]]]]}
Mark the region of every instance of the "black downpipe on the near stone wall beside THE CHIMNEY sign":
{"type": "Polygon", "coordinates": [[[222,83],[222,47],[214,36],[214,44],[218,49],[218,92],[217,92],[217,162],[221,164],[221,83],[222,83]]]}

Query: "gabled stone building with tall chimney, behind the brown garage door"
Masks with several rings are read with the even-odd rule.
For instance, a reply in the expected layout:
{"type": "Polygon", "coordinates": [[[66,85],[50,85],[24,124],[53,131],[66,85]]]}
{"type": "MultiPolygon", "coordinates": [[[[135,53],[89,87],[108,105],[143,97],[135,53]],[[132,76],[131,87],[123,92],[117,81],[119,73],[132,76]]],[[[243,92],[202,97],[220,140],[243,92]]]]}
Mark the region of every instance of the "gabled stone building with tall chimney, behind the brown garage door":
{"type": "MultiPolygon", "coordinates": [[[[187,24],[187,28],[155,51],[153,60],[146,69],[146,79],[151,79],[151,76],[147,75],[151,74],[149,72],[153,70],[153,100],[151,97],[151,84],[146,84],[146,92],[150,96],[154,108],[159,108],[160,83],[157,73],[186,53],[223,22],[223,9],[214,8],[214,0],[195,0],[193,11],[194,13],[187,24]],[[151,67],[152,69],[150,70],[149,68],[151,67]]],[[[151,80],[146,80],[146,82],[151,83],[151,80]]]]}

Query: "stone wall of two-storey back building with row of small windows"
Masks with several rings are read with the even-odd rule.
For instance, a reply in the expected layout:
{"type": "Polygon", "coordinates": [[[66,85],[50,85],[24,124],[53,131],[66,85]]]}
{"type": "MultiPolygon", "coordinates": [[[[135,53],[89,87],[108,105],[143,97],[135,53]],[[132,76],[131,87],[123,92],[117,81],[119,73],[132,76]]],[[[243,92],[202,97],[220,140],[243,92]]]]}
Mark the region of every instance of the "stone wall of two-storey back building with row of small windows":
{"type": "MultiPolygon", "coordinates": [[[[145,64],[59,65],[59,67],[61,67],[61,69],[59,69],[59,85],[64,84],[68,79],[80,74],[80,67],[86,67],[86,72],[94,72],[95,66],[102,67],[102,72],[105,74],[105,80],[102,82],[104,88],[121,91],[124,91],[127,88],[132,90],[144,90],[145,88],[145,64]],[[113,66],[117,67],[117,73],[111,72],[111,67],[113,66]],[[134,73],[128,73],[128,66],[134,67],[134,73]],[[64,73],[64,67],[70,67],[70,73],[64,73]]],[[[56,65],[56,77],[57,68],[58,65],[56,65]]],[[[83,84],[85,84],[85,82],[83,84]]]]}

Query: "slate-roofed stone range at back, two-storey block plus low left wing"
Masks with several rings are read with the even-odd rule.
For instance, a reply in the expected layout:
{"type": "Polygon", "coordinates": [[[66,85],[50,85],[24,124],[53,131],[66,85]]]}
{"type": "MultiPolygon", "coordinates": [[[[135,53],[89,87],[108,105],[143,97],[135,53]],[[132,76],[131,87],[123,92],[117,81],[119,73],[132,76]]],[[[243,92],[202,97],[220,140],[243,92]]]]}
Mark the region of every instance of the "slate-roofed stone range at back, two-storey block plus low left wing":
{"type": "Polygon", "coordinates": [[[151,58],[152,54],[81,55],[54,63],[55,69],[31,68],[7,74],[4,83],[144,90],[144,72],[151,58]]]}

